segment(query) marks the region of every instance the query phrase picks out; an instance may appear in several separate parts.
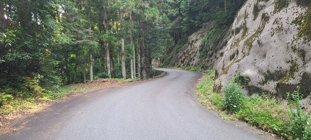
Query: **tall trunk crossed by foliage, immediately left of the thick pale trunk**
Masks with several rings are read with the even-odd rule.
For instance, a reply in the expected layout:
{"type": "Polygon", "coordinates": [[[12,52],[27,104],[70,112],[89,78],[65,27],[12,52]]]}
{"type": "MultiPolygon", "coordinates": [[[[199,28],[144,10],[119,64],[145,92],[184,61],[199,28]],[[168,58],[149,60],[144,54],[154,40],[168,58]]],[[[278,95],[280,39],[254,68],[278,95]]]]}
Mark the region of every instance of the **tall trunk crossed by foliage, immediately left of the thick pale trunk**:
{"type": "MultiPolygon", "coordinates": [[[[106,32],[109,30],[109,21],[107,19],[107,5],[106,5],[106,0],[104,0],[104,22],[105,22],[105,29],[106,32]]],[[[108,40],[105,40],[106,43],[106,61],[107,61],[107,71],[108,71],[108,75],[109,78],[111,78],[111,69],[110,69],[110,53],[109,53],[109,44],[108,44],[108,40]]]]}

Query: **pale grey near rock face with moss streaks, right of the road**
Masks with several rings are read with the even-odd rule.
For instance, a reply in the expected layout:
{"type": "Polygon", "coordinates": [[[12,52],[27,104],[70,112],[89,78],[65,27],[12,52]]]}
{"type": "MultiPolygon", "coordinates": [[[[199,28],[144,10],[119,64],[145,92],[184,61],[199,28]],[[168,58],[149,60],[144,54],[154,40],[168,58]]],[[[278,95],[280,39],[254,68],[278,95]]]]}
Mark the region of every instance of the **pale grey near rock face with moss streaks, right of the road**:
{"type": "Polygon", "coordinates": [[[287,4],[249,0],[240,9],[232,26],[233,36],[220,51],[223,56],[212,62],[218,87],[223,88],[239,69],[240,75],[249,79],[249,95],[264,92],[286,97],[286,92],[300,86],[304,103],[309,104],[310,32],[301,25],[304,22],[310,27],[310,6],[296,1],[287,4]]]}

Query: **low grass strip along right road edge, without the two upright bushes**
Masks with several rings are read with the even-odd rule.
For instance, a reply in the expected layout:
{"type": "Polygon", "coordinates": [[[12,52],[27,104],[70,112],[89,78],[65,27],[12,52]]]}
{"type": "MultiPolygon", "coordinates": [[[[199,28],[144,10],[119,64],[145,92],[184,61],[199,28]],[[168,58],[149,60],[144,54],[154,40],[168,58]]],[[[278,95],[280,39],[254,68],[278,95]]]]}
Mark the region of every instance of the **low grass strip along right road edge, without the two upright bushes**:
{"type": "MultiPolygon", "coordinates": [[[[291,125],[287,112],[289,106],[286,102],[282,103],[273,97],[245,96],[241,104],[241,109],[230,112],[230,110],[225,107],[223,93],[214,91],[216,80],[215,71],[191,67],[171,68],[206,72],[205,75],[199,79],[196,88],[196,96],[198,101],[209,110],[221,110],[223,113],[230,115],[230,118],[239,119],[247,122],[249,125],[262,128],[265,131],[276,134],[282,139],[296,138],[295,134],[290,131],[291,125]]],[[[218,116],[224,118],[221,114],[218,116]]]]}

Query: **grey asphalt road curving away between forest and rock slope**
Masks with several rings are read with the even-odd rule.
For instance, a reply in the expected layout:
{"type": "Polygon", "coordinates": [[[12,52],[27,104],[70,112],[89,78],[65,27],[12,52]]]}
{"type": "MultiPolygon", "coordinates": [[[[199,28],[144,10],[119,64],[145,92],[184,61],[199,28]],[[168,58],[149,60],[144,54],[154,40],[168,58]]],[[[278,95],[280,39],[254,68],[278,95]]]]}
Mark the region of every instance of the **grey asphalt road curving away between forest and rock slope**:
{"type": "Polygon", "coordinates": [[[156,80],[86,92],[19,120],[1,140],[259,140],[201,106],[197,72],[157,68],[156,80]],[[17,134],[16,134],[17,133],[17,134]]]}

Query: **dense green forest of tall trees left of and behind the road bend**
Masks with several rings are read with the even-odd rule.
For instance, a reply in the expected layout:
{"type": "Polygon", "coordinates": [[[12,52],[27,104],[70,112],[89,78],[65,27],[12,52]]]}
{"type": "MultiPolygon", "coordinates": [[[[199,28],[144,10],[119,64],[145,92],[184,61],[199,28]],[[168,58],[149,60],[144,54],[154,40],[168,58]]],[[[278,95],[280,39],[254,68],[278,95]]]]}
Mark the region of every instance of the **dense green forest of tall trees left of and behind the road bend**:
{"type": "Polygon", "coordinates": [[[2,0],[1,101],[98,78],[152,77],[153,58],[181,49],[207,21],[230,26],[244,2],[2,0]]]}

